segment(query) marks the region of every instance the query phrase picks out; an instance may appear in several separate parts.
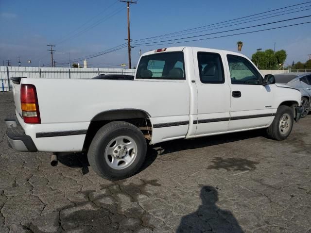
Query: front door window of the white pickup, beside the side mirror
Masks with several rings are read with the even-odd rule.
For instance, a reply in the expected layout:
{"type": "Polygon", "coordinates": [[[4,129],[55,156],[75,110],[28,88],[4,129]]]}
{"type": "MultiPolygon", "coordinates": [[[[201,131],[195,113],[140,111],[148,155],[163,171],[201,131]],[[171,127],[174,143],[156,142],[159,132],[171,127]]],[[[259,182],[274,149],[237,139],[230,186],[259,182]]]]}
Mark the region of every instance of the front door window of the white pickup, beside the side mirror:
{"type": "Polygon", "coordinates": [[[263,82],[258,70],[244,57],[227,55],[232,84],[259,85],[263,82]]]}

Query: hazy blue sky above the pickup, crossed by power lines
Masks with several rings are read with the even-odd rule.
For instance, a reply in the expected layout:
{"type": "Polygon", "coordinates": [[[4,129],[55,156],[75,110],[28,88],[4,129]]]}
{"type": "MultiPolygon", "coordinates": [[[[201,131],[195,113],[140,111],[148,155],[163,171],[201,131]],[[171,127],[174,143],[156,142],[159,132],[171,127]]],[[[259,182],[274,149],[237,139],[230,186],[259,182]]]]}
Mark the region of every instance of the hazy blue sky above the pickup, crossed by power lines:
{"type": "MultiPolygon", "coordinates": [[[[131,38],[136,40],[172,33],[302,2],[307,0],[260,0],[256,3],[249,0],[138,0],[138,4],[131,5],[131,38]]],[[[305,7],[299,10],[309,9],[311,2],[297,7],[305,7]]],[[[309,15],[311,10],[305,10],[204,33],[309,15]]],[[[311,17],[237,32],[306,21],[311,21],[311,17]]],[[[71,59],[83,57],[120,45],[127,38],[125,3],[116,0],[0,0],[0,25],[1,65],[2,60],[10,59],[12,66],[16,66],[16,56],[22,56],[22,65],[28,65],[27,60],[32,60],[32,66],[37,66],[39,61],[41,65],[49,64],[51,55],[47,51],[47,44],[56,45],[54,58],[57,65],[68,62],[69,53],[71,59]],[[100,19],[106,20],[98,21],[100,19]],[[97,22],[95,27],[80,33],[97,22]]],[[[224,34],[228,33],[221,35],[224,34]]],[[[311,24],[175,45],[237,51],[236,43],[239,40],[243,41],[242,53],[248,57],[258,48],[273,49],[276,42],[276,50],[284,49],[288,53],[286,63],[292,63],[293,60],[305,62],[308,54],[311,54],[311,24]]],[[[132,49],[132,64],[138,61],[139,49],[144,52],[162,47],[166,46],[135,47],[132,49]]],[[[88,63],[94,67],[127,63],[127,48],[90,59],[88,63]]]]}

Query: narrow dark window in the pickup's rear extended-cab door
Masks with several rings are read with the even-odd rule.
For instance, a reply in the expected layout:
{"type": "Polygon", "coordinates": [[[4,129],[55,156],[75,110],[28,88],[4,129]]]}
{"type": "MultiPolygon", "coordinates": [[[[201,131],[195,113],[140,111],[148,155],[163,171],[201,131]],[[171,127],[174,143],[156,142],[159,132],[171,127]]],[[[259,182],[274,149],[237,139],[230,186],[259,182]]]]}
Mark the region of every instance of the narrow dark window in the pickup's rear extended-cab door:
{"type": "Polygon", "coordinates": [[[198,64],[202,83],[225,83],[224,67],[220,54],[198,52],[198,64]]]}

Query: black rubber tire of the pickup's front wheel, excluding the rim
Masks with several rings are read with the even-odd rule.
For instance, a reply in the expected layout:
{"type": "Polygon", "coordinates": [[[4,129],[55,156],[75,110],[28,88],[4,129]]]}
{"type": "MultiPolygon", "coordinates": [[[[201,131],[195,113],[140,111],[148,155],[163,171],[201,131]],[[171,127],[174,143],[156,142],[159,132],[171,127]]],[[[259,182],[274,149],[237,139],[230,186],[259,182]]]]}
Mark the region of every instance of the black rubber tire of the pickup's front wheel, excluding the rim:
{"type": "Polygon", "coordinates": [[[293,108],[285,105],[281,105],[278,107],[276,116],[274,117],[272,124],[269,126],[269,128],[266,129],[266,132],[268,134],[268,137],[274,139],[274,140],[284,140],[290,135],[292,132],[294,125],[294,110],[293,108]],[[280,120],[283,116],[288,116],[290,120],[290,125],[286,129],[287,131],[284,133],[282,130],[280,130],[280,120]]]}

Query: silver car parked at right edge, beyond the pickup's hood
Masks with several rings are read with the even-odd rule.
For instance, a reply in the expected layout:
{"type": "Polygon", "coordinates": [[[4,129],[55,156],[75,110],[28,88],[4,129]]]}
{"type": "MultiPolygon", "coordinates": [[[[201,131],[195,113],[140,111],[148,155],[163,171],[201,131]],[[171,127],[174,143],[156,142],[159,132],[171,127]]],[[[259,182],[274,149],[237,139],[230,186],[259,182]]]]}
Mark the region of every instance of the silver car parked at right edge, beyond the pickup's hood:
{"type": "Polygon", "coordinates": [[[276,74],[274,77],[276,83],[282,83],[300,90],[301,106],[303,107],[301,117],[307,116],[311,110],[311,73],[276,74]]]}

